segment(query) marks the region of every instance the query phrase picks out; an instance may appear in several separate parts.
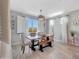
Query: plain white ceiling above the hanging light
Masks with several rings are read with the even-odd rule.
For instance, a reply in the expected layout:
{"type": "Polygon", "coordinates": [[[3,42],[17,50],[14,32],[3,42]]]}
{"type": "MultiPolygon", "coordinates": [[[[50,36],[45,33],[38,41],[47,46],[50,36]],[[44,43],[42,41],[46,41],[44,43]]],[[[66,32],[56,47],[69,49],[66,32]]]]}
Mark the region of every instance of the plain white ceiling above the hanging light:
{"type": "Polygon", "coordinates": [[[57,12],[69,12],[79,9],[79,0],[11,0],[11,10],[39,15],[50,16],[57,12]]]}

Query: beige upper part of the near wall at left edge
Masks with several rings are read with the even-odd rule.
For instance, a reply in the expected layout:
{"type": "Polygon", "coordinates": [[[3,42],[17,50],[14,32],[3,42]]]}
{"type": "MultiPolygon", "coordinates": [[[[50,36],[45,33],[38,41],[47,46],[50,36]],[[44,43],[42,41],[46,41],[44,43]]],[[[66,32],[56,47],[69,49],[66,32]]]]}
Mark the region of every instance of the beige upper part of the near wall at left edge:
{"type": "Polygon", "coordinates": [[[2,39],[6,43],[10,43],[11,39],[11,30],[10,30],[10,8],[9,8],[9,0],[0,0],[1,2],[1,28],[2,28],[2,39]]]}

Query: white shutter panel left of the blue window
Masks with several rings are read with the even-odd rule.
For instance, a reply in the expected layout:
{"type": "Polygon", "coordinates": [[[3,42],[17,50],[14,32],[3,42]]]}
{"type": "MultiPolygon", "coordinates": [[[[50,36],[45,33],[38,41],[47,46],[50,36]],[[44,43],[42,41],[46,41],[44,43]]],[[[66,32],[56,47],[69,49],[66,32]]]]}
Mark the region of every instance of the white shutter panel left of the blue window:
{"type": "Polygon", "coordinates": [[[26,21],[25,17],[17,16],[17,33],[25,33],[26,32],[26,21]]]}

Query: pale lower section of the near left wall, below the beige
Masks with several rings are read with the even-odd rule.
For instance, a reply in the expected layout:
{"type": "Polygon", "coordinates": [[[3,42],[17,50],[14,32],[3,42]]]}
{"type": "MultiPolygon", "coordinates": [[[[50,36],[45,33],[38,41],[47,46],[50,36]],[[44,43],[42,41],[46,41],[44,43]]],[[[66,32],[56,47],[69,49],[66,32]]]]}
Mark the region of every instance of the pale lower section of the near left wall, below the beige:
{"type": "Polygon", "coordinates": [[[11,45],[0,41],[0,59],[12,59],[11,45]]]}

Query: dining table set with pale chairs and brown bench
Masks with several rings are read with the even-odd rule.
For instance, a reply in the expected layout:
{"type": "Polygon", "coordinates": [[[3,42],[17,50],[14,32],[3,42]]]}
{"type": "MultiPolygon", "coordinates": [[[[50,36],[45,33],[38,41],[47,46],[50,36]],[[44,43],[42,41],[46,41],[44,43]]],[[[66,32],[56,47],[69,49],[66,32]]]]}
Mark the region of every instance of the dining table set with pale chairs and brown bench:
{"type": "Polygon", "coordinates": [[[53,39],[54,35],[52,34],[45,34],[45,33],[30,33],[30,35],[27,35],[26,33],[21,34],[21,50],[24,53],[26,50],[26,46],[29,46],[29,48],[32,51],[36,51],[38,47],[38,50],[41,52],[44,52],[44,48],[46,47],[52,47],[54,43],[53,39]]]}

